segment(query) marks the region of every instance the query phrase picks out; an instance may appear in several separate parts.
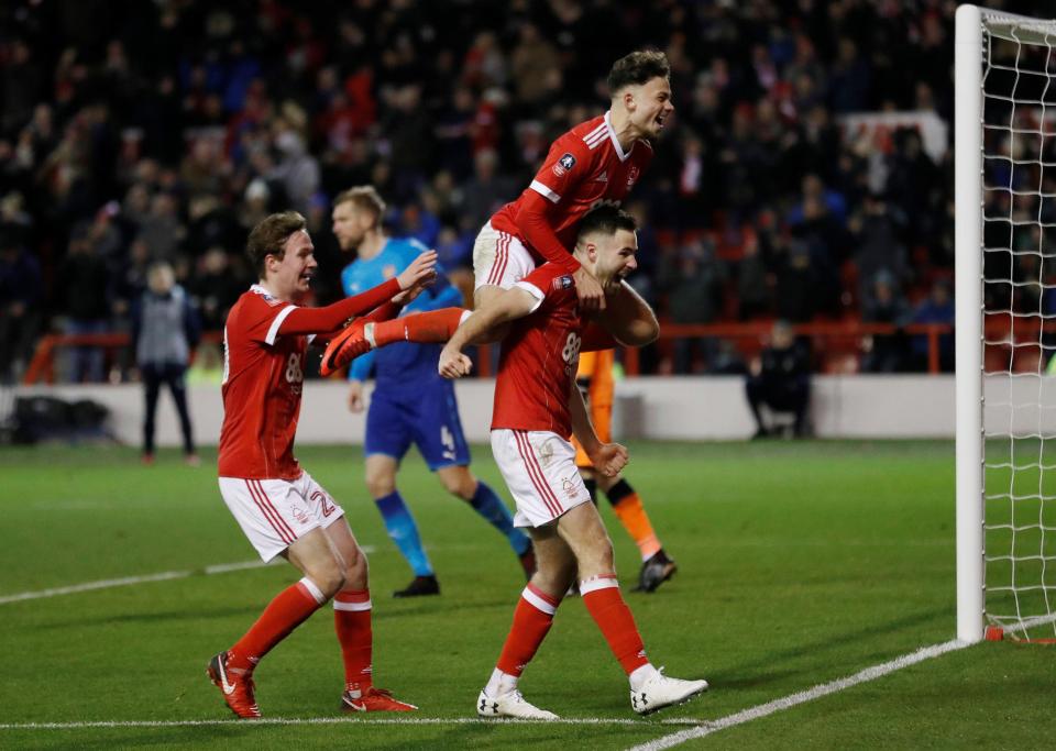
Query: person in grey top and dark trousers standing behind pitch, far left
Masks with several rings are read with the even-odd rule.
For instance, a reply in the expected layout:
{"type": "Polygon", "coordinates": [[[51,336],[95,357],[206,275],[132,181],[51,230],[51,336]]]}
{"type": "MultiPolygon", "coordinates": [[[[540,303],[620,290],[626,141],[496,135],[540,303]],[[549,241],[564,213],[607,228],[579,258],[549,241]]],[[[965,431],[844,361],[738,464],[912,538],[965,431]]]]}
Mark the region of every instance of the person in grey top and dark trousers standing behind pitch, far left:
{"type": "Polygon", "coordinates": [[[165,262],[151,266],[147,289],[133,308],[132,341],[135,363],[143,379],[143,463],[154,463],[154,418],[157,397],[168,386],[179,416],[184,459],[197,465],[195,440],[187,409],[185,374],[190,352],[201,332],[198,314],[183,287],[176,284],[173,267],[165,262]]]}

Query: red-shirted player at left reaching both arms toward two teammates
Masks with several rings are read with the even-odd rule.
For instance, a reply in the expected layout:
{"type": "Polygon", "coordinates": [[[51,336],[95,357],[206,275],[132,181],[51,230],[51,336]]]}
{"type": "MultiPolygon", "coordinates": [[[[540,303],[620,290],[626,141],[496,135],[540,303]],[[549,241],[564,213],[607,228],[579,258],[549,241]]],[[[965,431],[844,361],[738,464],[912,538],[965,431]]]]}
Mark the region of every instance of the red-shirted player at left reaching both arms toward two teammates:
{"type": "Polygon", "coordinates": [[[395,316],[436,276],[437,256],[422,253],[395,278],[355,297],[304,308],[297,301],[308,294],[318,266],[306,224],[289,211],[253,228],[246,250],[260,281],[231,308],[223,329],[220,494],[263,561],[282,555],[304,575],[233,647],[209,661],[209,677],[243,718],[261,716],[253,684],[260,661],[331,598],[344,662],[341,708],[416,708],[373,685],[366,556],[342,508],[297,462],[294,437],[308,343],[372,308],[395,316]]]}

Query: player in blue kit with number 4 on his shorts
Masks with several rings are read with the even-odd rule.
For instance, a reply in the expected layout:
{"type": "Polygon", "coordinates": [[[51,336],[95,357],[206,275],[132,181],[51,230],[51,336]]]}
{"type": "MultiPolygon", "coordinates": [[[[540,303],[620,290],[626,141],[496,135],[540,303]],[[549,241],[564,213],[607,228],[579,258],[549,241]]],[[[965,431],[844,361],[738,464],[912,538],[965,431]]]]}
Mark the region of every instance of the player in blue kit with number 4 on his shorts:
{"type": "MultiPolygon", "coordinates": [[[[345,295],[358,295],[399,274],[426,250],[416,240],[386,236],[384,216],[385,202],[372,186],[351,188],[334,199],[333,234],[342,251],[358,254],[341,272],[345,295]]],[[[404,314],[461,305],[461,292],[441,273],[437,284],[409,303],[404,314]]],[[[363,410],[363,382],[372,371],[375,376],[366,415],[366,486],[388,535],[415,572],[407,588],[393,593],[396,597],[440,594],[418,526],[396,489],[396,472],[411,443],[449,493],[469,502],[506,537],[525,574],[531,576],[535,571],[531,540],[514,527],[509,509],[495,492],[470,472],[454,388],[437,373],[440,350],[440,344],[398,343],[354,360],[349,368],[349,409],[353,412],[363,410]]]]}

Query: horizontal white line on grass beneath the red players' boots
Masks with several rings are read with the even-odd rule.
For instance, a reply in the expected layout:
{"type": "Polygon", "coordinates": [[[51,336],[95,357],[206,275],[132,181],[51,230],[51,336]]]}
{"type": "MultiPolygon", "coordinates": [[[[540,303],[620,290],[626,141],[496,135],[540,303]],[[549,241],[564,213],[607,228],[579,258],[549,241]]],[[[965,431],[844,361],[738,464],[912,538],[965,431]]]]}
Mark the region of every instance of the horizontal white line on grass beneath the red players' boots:
{"type": "MultiPolygon", "coordinates": [[[[679,718],[660,725],[700,725],[703,720],[679,718]]],[[[84,722],[3,722],[0,730],[87,730],[98,728],[197,728],[238,725],[253,728],[268,725],[637,725],[646,728],[656,722],[619,717],[566,717],[557,720],[518,720],[492,717],[265,717],[255,720],[98,720],[84,722]]]]}

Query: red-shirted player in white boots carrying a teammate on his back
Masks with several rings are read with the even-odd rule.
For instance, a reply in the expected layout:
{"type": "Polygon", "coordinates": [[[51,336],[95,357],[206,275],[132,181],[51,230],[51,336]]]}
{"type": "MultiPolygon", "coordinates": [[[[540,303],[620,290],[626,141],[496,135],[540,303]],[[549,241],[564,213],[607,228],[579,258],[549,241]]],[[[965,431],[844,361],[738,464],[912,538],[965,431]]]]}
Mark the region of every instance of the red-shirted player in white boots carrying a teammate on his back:
{"type": "MultiPolygon", "coordinates": [[[[604,207],[587,214],[576,261],[606,294],[637,266],[634,218],[604,207]]],[[[707,689],[707,682],[663,675],[646,656],[641,636],[619,593],[613,544],[575,466],[575,434],[594,468],[615,477],[627,450],[603,443],[575,385],[584,321],[568,269],[544,264],[491,297],[458,328],[440,354],[440,373],[457,378],[472,363],[462,352],[496,327],[503,340],[492,418],[492,452],[517,504],[515,521],[536,549],[538,568],[521,593],[498,663],[477,700],[485,717],[556,719],[529,704],[518,678],[550,630],[573,582],[630,683],[631,708],[649,714],[707,689]]]]}

